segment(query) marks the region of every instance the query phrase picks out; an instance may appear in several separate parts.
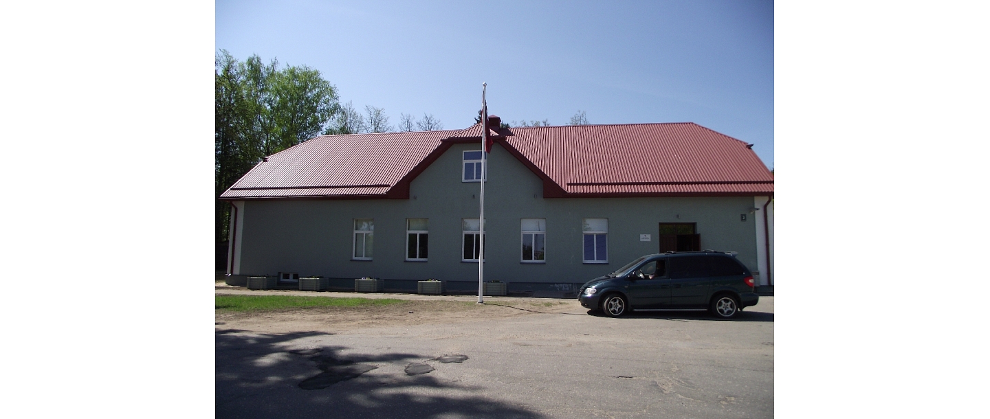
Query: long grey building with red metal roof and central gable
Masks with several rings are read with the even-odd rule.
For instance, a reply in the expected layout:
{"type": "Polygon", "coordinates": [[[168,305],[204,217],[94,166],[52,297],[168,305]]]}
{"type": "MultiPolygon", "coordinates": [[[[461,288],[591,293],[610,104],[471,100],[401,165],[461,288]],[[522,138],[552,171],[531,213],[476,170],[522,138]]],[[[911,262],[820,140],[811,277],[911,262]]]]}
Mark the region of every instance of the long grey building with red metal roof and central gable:
{"type": "MultiPolygon", "coordinates": [[[[693,123],[491,134],[486,281],[567,291],[644,254],[714,249],[772,284],[773,176],[751,144],[693,123]]],[[[266,157],[221,196],[234,206],[233,281],[297,273],[415,290],[434,278],[476,291],[480,135],[324,135],[266,157]]]]}

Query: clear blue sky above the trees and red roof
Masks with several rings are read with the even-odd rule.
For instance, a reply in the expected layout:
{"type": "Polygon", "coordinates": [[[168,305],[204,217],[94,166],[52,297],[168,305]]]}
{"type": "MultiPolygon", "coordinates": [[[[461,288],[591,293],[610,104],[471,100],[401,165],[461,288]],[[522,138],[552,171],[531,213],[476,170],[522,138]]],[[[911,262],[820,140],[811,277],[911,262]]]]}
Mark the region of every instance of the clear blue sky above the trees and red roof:
{"type": "Polygon", "coordinates": [[[693,122],[773,167],[773,3],[216,2],[216,49],[308,65],[357,109],[473,124],[693,122]]]}

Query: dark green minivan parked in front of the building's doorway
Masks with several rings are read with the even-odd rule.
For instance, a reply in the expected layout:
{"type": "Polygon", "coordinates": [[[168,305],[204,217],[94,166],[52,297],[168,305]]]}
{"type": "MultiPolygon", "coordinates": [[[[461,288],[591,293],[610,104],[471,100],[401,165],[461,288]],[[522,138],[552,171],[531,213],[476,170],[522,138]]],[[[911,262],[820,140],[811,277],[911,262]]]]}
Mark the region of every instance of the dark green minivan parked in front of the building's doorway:
{"type": "Polygon", "coordinates": [[[721,318],[755,305],[752,273],[735,252],[646,255],[578,292],[581,305],[618,317],[630,310],[711,310],[721,318]]]}

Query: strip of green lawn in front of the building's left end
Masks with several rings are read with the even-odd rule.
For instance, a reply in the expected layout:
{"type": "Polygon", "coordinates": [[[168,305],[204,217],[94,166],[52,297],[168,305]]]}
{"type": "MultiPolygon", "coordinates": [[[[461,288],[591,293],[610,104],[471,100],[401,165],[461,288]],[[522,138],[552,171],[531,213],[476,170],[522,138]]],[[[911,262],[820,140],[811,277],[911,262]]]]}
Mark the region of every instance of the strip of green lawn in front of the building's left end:
{"type": "Polygon", "coordinates": [[[301,307],[362,307],[392,305],[403,302],[397,298],[349,298],[296,295],[217,295],[218,310],[252,311],[301,307]]]}

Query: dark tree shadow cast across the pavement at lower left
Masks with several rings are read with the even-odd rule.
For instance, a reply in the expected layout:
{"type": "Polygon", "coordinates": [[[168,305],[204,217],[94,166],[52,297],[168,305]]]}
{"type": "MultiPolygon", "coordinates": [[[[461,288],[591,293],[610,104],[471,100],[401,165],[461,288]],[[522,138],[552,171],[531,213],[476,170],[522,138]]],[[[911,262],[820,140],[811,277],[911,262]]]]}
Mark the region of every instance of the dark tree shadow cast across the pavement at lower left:
{"type": "Polygon", "coordinates": [[[482,388],[401,368],[445,354],[355,354],[320,332],[218,329],[215,337],[218,418],[544,417],[483,397],[482,388]]]}

